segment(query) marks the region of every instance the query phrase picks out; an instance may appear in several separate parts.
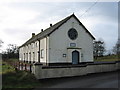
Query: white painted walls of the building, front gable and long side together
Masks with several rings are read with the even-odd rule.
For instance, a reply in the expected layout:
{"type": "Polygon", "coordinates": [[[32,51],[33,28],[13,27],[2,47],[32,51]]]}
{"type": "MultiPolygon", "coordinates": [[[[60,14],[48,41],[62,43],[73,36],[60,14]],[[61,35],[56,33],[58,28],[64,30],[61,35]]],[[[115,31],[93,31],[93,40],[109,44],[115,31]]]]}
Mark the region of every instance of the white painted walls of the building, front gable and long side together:
{"type": "MultiPolygon", "coordinates": [[[[76,49],[68,50],[67,48],[70,47],[70,43],[76,43],[76,47],[81,48],[78,50],[80,52],[80,62],[93,61],[93,39],[84,30],[84,28],[79,25],[79,22],[74,17],[72,17],[55,32],[53,32],[50,37],[47,36],[43,39],[40,39],[40,62],[72,62],[71,52],[76,49]],[[68,30],[70,28],[75,28],[77,30],[78,38],[76,40],[69,39],[68,30]],[[43,50],[43,58],[41,57],[41,50],[43,50]],[[63,54],[66,54],[67,57],[63,57],[63,54]],[[83,54],[83,57],[81,57],[81,54],[83,54]]],[[[19,50],[19,60],[24,60],[25,58],[25,61],[38,62],[39,41],[25,45],[19,50]],[[33,55],[33,52],[35,55],[33,55]],[[31,53],[31,57],[29,53],[31,53]]]]}

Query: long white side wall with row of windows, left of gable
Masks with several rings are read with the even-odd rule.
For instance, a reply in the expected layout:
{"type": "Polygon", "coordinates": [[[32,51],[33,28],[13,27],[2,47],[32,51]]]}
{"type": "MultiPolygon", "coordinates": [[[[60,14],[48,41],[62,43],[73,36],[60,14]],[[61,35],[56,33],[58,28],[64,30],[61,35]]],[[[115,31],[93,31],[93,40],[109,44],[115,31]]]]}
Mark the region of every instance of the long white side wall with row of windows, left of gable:
{"type": "Polygon", "coordinates": [[[49,61],[49,37],[44,37],[28,45],[25,45],[19,49],[19,60],[28,62],[38,62],[40,57],[41,63],[49,61]],[[39,41],[40,41],[40,54],[39,52],[39,41]],[[43,53],[41,55],[41,50],[43,53]],[[25,54],[25,55],[24,55],[25,54]]]}

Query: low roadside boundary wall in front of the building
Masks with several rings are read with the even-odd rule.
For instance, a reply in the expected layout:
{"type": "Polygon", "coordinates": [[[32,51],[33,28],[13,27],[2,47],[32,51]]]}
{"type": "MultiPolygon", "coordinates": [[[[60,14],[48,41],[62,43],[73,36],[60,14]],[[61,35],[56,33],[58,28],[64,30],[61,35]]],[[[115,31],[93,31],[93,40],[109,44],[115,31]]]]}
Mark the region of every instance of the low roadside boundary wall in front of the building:
{"type": "Polygon", "coordinates": [[[119,62],[114,63],[92,63],[84,65],[71,66],[43,66],[41,64],[34,64],[32,66],[32,73],[37,79],[55,78],[55,77],[70,77],[80,76],[89,73],[109,72],[120,69],[119,62]]]}

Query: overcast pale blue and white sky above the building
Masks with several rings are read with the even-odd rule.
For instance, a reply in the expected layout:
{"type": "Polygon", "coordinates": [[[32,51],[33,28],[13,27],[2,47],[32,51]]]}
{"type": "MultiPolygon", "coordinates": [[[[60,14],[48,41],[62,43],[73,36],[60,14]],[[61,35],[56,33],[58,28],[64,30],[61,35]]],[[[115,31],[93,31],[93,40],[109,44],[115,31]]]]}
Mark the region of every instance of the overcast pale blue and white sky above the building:
{"type": "Polygon", "coordinates": [[[31,33],[39,33],[49,24],[71,15],[73,12],[96,39],[105,41],[106,49],[112,49],[118,39],[118,3],[97,2],[2,2],[0,3],[0,39],[7,44],[22,45],[31,33]]]}

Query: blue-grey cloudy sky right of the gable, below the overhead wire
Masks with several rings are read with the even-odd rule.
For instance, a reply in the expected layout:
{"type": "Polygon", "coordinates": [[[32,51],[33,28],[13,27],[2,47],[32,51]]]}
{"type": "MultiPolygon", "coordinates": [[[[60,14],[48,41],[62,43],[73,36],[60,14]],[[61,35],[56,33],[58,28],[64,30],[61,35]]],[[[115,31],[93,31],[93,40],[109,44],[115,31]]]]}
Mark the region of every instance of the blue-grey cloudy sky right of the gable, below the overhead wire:
{"type": "Polygon", "coordinates": [[[98,3],[80,21],[98,40],[105,41],[106,49],[112,49],[118,40],[118,9],[117,3],[98,3]],[[109,10],[110,9],[110,10],[109,10]]]}

